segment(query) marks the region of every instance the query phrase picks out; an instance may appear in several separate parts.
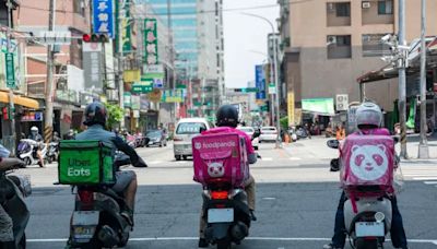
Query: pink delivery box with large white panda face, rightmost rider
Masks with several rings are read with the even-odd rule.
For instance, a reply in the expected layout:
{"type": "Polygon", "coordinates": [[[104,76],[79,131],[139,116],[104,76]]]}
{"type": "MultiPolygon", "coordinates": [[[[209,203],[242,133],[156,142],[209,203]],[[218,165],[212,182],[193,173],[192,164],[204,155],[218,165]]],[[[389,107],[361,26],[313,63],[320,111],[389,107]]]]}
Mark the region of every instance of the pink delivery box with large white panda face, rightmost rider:
{"type": "Polygon", "coordinates": [[[357,195],[392,192],[394,157],[394,141],[390,135],[378,132],[349,135],[341,150],[342,188],[357,195]]]}

